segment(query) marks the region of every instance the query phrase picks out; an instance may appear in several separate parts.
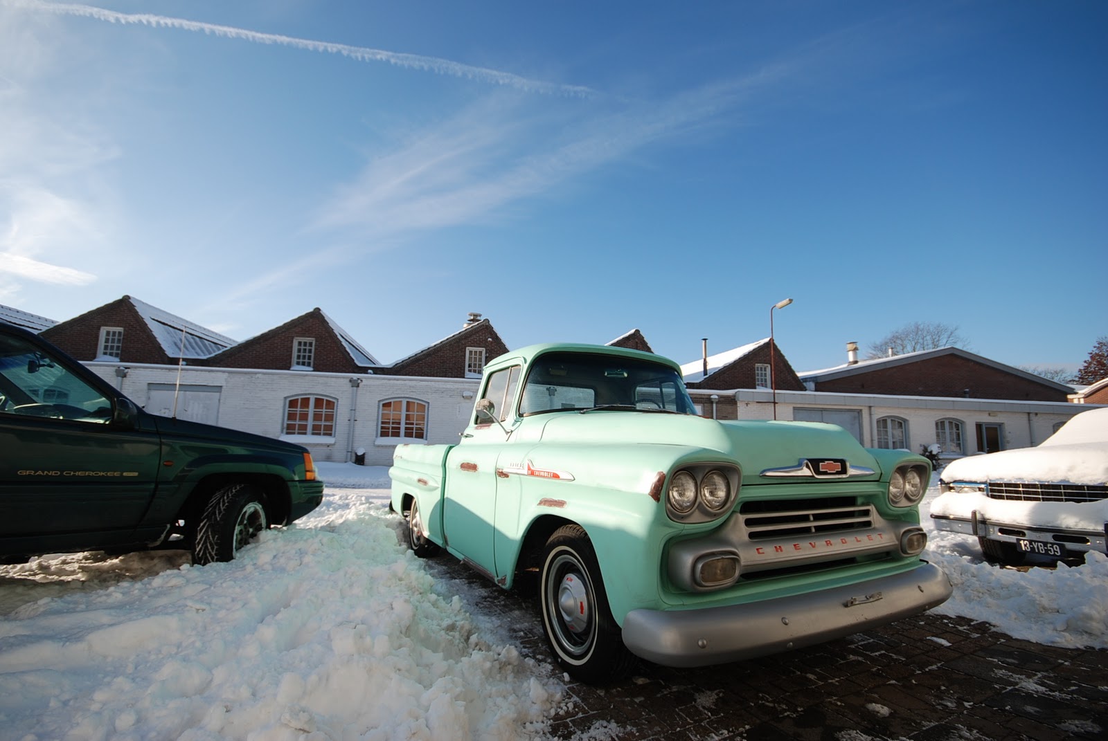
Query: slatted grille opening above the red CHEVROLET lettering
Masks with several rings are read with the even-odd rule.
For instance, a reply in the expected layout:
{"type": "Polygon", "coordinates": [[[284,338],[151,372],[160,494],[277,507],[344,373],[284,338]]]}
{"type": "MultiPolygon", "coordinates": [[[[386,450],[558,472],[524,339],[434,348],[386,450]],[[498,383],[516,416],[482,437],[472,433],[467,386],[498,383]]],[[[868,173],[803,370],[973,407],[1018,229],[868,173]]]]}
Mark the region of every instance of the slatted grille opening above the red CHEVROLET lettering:
{"type": "Polygon", "coordinates": [[[873,507],[852,496],[743,502],[739,515],[751,541],[873,527],[873,507]]]}

